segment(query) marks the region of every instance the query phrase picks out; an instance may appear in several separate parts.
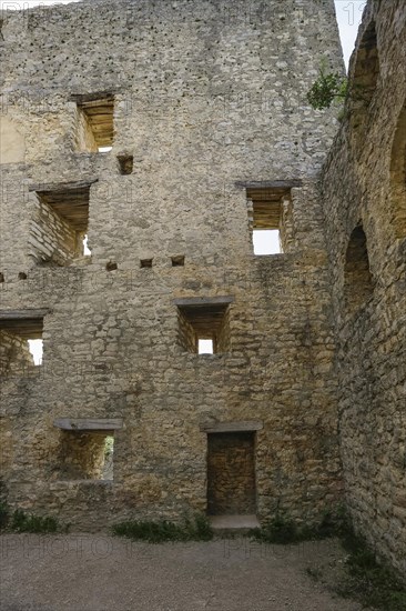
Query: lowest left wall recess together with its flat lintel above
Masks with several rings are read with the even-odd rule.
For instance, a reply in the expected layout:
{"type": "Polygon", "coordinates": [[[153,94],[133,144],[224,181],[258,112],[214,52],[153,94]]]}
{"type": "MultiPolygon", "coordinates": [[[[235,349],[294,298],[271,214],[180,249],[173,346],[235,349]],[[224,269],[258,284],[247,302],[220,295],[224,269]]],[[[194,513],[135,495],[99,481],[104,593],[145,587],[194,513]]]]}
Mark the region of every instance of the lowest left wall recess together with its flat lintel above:
{"type": "Polygon", "coordinates": [[[54,421],[61,430],[61,480],[113,480],[114,434],[121,419],[70,419],[54,421]]]}

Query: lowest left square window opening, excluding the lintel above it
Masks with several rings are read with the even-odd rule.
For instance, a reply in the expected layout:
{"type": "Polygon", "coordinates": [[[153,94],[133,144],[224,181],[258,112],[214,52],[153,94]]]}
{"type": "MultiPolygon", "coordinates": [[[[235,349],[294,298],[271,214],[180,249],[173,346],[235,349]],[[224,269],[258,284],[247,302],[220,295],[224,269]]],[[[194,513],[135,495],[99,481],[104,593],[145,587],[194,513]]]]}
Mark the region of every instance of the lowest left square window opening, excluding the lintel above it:
{"type": "Polygon", "coordinates": [[[112,481],[114,474],[113,431],[61,431],[62,480],[112,481]]]}

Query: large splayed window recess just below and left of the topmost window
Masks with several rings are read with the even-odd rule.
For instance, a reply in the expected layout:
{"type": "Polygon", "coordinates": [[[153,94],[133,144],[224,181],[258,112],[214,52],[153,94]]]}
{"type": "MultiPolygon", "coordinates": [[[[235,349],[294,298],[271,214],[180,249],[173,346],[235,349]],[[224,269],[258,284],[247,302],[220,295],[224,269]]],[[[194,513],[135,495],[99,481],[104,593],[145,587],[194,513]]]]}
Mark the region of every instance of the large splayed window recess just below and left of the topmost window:
{"type": "Polygon", "coordinates": [[[93,182],[30,186],[37,196],[37,209],[29,246],[37,262],[63,267],[84,254],[93,182]]]}

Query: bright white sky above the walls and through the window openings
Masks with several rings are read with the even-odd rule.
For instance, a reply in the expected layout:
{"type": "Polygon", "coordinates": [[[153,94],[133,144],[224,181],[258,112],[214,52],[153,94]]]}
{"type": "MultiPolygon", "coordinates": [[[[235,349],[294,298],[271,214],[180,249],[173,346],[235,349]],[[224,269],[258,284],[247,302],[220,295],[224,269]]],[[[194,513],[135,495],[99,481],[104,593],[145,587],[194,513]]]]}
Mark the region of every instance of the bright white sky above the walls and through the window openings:
{"type": "MultiPolygon", "coordinates": [[[[31,7],[38,7],[39,4],[70,4],[78,1],[80,0],[18,0],[16,2],[10,0],[0,0],[0,7],[8,10],[23,10],[31,7]]],[[[345,66],[348,67],[349,57],[354,49],[354,43],[366,0],[334,0],[334,3],[343,47],[344,61],[345,66]]],[[[254,236],[255,254],[268,254],[270,251],[273,253],[280,252],[277,232],[262,231],[256,233],[257,236],[254,236]]],[[[34,361],[35,363],[39,363],[42,357],[42,342],[41,340],[35,340],[30,342],[30,344],[34,361]]],[[[204,349],[209,352],[211,351],[209,344],[205,344],[204,349]]]]}

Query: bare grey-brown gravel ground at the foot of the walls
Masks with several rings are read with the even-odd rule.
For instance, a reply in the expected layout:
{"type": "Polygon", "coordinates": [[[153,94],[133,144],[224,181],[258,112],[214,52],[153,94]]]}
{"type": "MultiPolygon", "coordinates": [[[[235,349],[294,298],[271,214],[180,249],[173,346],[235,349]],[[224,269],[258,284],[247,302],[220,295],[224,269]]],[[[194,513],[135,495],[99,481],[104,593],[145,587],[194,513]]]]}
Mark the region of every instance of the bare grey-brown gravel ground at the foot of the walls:
{"type": "Polygon", "coordinates": [[[0,537],[1,611],[359,611],[308,577],[342,571],[335,541],[152,545],[102,535],[0,537]]]}

